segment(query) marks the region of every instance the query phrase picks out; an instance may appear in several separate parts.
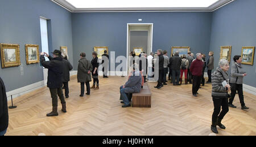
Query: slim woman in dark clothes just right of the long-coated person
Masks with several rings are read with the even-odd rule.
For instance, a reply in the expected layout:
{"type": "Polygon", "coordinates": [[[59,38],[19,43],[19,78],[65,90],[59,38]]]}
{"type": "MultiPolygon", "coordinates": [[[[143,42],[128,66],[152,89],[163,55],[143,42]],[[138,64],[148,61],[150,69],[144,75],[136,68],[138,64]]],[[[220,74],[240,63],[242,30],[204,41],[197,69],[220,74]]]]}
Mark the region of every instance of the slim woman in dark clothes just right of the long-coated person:
{"type": "Polygon", "coordinates": [[[98,81],[98,54],[96,53],[96,51],[93,51],[92,53],[93,59],[92,59],[92,66],[93,66],[93,71],[92,71],[92,77],[93,77],[93,87],[91,87],[94,90],[98,90],[99,88],[99,81],[98,81]],[[96,86],[97,83],[97,87],[96,86]]]}

